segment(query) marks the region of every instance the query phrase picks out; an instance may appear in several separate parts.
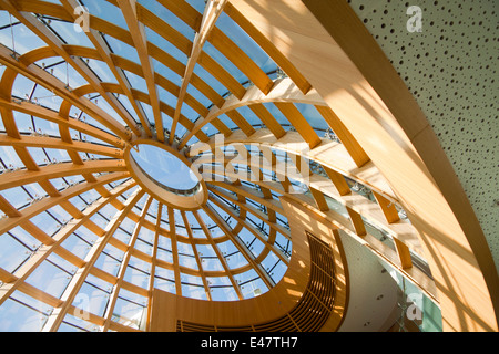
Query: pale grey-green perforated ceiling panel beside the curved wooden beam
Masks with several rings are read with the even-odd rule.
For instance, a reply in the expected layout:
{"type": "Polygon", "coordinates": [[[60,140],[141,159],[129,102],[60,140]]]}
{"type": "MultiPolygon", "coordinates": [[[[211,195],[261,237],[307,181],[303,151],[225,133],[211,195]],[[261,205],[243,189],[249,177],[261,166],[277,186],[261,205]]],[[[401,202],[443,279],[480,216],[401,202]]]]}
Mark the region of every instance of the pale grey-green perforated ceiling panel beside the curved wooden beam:
{"type": "Polygon", "coordinates": [[[348,2],[426,114],[499,268],[499,1],[348,2]]]}

